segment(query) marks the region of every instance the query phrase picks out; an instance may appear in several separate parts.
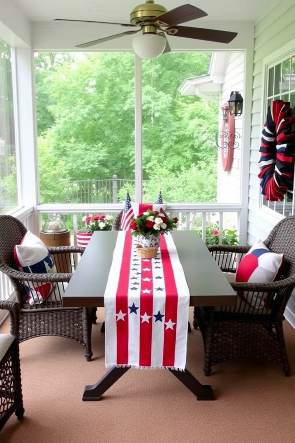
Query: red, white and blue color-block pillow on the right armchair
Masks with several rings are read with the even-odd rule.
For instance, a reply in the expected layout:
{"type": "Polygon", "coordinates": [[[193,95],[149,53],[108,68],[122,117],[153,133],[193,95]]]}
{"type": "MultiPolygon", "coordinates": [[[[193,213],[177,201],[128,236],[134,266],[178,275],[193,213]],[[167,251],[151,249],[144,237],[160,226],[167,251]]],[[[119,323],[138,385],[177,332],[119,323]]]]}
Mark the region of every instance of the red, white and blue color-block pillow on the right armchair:
{"type": "MultiPolygon", "coordinates": [[[[270,251],[261,240],[241,259],[236,272],[237,283],[270,283],[279,278],[284,264],[284,254],[270,251]]],[[[256,309],[265,307],[267,292],[239,292],[256,309]]]]}

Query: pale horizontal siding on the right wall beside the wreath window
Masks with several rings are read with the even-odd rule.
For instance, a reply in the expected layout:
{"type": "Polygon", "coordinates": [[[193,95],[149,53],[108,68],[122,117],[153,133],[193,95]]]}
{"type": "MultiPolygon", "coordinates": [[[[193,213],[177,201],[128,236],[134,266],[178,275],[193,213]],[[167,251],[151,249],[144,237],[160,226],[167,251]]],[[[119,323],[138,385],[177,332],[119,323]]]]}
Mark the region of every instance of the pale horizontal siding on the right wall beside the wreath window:
{"type": "MultiPolygon", "coordinates": [[[[264,239],[278,221],[271,213],[259,210],[260,187],[257,177],[261,130],[265,120],[263,112],[263,59],[295,39],[295,2],[282,0],[261,19],[254,29],[254,59],[252,88],[252,118],[250,140],[250,176],[248,202],[248,243],[264,239]]],[[[294,47],[295,51],[295,47],[294,47]]],[[[295,325],[295,298],[288,303],[286,316],[295,325]]]]}

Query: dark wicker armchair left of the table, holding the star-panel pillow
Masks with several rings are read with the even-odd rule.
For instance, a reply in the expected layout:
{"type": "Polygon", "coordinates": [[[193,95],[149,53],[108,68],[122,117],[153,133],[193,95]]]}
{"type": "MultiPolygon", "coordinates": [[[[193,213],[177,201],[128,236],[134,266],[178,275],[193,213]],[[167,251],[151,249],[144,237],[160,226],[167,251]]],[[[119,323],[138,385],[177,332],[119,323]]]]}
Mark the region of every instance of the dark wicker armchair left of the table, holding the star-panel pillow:
{"type": "Polygon", "coordinates": [[[30,274],[19,272],[13,256],[14,246],[19,244],[27,233],[26,227],[10,215],[0,215],[0,271],[4,272],[15,290],[15,299],[19,304],[19,341],[42,335],[57,335],[72,338],[85,346],[85,357],[91,361],[91,330],[92,316],[95,310],[91,308],[64,308],[62,294],[76,268],[79,254],[84,252],[83,247],[59,246],[48,247],[54,255],[55,263],[69,263],[68,273],[30,274]],[[27,301],[25,285],[34,287],[44,283],[51,283],[53,288],[50,296],[43,302],[27,301]]]}

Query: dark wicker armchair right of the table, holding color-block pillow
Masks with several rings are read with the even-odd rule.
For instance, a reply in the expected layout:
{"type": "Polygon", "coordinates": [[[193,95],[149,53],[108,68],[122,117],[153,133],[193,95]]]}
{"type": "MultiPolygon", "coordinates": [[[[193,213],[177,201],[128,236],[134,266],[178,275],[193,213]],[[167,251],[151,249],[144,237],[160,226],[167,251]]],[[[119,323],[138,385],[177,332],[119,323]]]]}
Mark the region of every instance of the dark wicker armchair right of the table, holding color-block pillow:
{"type": "MultiPolygon", "coordinates": [[[[282,366],[290,375],[283,320],[284,310],[295,287],[295,217],[284,218],[268,235],[264,244],[274,253],[284,253],[280,280],[272,283],[231,283],[244,297],[267,294],[267,306],[255,309],[238,295],[235,307],[194,309],[194,327],[199,326],[204,342],[204,373],[211,366],[237,357],[266,358],[282,366]]],[[[237,264],[250,246],[208,246],[223,272],[234,275],[237,264]]],[[[255,305],[254,305],[255,306],[255,305]]]]}

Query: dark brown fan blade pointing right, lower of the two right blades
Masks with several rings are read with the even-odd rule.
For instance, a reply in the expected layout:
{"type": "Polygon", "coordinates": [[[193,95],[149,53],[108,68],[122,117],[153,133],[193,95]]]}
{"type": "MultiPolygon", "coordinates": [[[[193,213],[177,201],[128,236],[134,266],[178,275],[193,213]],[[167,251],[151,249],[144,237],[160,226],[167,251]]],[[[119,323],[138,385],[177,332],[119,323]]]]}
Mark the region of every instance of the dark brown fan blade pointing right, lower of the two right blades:
{"type": "Polygon", "coordinates": [[[219,31],[218,29],[175,26],[165,30],[168,35],[186,37],[187,39],[208,40],[209,42],[230,43],[238,32],[219,31]]]}

